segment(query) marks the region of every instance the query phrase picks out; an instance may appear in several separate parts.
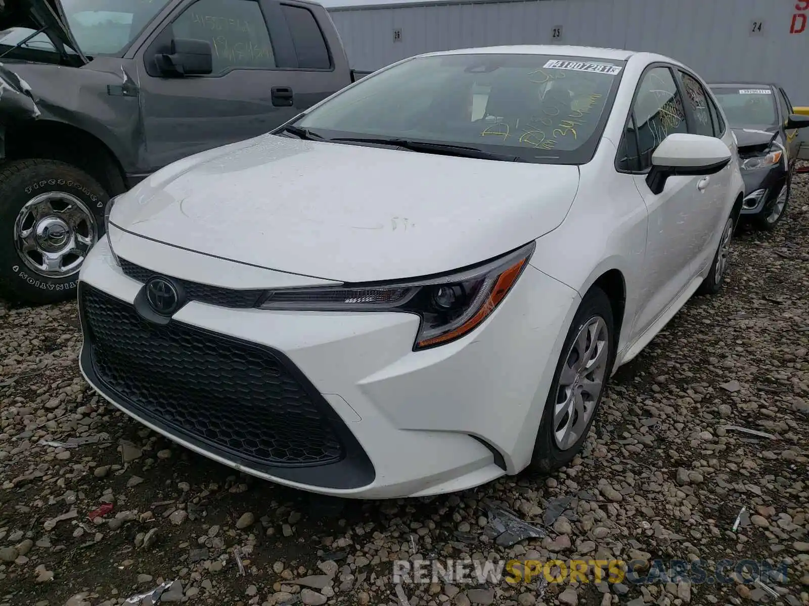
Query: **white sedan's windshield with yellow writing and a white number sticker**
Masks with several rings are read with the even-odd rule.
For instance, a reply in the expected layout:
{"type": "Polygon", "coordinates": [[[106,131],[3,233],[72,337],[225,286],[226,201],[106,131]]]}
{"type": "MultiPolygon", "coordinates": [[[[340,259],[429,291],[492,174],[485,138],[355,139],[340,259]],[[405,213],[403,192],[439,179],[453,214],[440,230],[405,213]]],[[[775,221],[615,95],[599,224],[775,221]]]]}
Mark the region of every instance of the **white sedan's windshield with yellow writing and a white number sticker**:
{"type": "Polygon", "coordinates": [[[294,126],[327,139],[397,138],[523,162],[589,162],[624,65],[536,54],[415,57],[362,78],[294,126]]]}

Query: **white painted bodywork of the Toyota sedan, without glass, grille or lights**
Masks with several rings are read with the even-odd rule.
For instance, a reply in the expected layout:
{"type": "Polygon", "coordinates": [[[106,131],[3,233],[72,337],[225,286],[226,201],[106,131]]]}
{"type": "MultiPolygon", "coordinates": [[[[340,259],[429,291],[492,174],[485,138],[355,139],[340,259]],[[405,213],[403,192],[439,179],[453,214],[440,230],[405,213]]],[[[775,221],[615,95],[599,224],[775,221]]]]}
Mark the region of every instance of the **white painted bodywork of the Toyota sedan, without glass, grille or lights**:
{"type": "MultiPolygon", "coordinates": [[[[593,48],[564,53],[626,57],[593,48]]],[[[671,177],[659,195],[642,175],[616,170],[616,141],[635,86],[654,61],[671,60],[629,57],[595,157],[579,167],[267,136],[187,158],[123,196],[111,217],[116,255],[225,288],[425,276],[536,239],[530,265],[493,314],[463,338],[426,351],[413,351],[414,314],[190,301],[173,316],[282,352],[361,444],[375,469],[370,484],[301,484],[178,441],[273,482],[354,497],[461,490],[525,468],[565,335],[592,284],[608,271],[620,272],[625,284],[617,367],[699,286],[743,191],[735,161],[702,187],[701,177],[671,177]]],[[[722,141],[735,158],[730,131],[722,141]]],[[[144,288],[116,265],[107,242],[91,251],[80,280],[126,303],[144,288]]],[[[84,362],[83,372],[91,381],[84,362]]]]}

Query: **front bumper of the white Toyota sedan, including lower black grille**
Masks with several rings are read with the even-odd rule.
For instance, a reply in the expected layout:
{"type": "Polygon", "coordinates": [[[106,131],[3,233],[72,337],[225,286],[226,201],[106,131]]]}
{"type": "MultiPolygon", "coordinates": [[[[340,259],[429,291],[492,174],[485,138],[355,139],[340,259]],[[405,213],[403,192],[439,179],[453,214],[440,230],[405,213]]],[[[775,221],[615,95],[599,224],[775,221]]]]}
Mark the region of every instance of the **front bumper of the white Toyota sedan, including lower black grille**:
{"type": "MultiPolygon", "coordinates": [[[[155,246],[163,245],[149,244],[155,246]]],[[[164,249],[165,255],[176,250],[164,249]]],[[[471,335],[414,352],[419,320],[412,314],[278,312],[190,301],[167,325],[179,333],[138,328],[131,316],[143,284],[121,271],[106,240],[83,263],[79,288],[80,366],[109,402],[234,469],[357,498],[464,490],[523,469],[578,305],[573,289],[529,266],[471,335]],[[112,351],[111,343],[117,343],[112,371],[99,353],[112,351]],[[290,404],[290,390],[298,403],[290,404]],[[278,448],[292,454],[284,460],[278,448]]]]}

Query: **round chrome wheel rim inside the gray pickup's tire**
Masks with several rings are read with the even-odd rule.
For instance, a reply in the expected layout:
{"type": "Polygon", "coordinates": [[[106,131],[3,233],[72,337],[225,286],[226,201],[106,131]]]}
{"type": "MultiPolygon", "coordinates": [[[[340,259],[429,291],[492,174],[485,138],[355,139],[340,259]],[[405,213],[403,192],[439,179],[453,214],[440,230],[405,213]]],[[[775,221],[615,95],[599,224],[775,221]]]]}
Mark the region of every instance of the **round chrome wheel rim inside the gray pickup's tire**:
{"type": "Polygon", "coordinates": [[[49,278],[72,276],[98,238],[95,217],[75,196],[49,191],[28,200],[14,224],[19,258],[49,278]]]}

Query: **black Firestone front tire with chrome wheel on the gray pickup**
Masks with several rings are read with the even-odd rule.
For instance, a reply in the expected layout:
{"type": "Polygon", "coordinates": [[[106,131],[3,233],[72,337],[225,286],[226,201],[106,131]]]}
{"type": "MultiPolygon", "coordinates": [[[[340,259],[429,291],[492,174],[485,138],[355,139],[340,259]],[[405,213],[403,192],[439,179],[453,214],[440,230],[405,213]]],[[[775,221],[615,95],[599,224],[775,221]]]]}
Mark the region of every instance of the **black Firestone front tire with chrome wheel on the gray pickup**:
{"type": "Polygon", "coordinates": [[[0,297],[28,305],[75,297],[84,256],[104,235],[108,199],[95,179],[65,162],[0,166],[0,297]]]}

